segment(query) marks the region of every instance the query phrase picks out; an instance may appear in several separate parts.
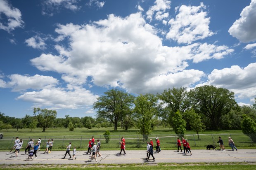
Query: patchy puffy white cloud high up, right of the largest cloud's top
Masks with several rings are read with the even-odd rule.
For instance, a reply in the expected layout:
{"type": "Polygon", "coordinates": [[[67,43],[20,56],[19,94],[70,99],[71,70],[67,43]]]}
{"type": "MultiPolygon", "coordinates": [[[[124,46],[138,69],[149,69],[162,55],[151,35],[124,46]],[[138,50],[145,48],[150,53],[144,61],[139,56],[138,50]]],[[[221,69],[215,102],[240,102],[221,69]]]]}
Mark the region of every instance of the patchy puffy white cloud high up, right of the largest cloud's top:
{"type": "Polygon", "coordinates": [[[214,33],[209,30],[210,17],[207,17],[207,12],[203,11],[205,8],[203,3],[197,7],[181,5],[175,19],[168,22],[171,28],[166,38],[175,40],[179,44],[191,44],[213,35],[214,33]]]}

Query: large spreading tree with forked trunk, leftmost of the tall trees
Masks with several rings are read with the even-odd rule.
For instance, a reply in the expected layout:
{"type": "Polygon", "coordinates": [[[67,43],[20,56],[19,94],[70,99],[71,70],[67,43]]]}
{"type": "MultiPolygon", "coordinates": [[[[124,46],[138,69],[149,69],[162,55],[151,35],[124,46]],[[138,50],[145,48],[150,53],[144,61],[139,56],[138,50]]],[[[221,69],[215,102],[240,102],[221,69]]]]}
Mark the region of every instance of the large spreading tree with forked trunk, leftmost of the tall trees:
{"type": "Polygon", "coordinates": [[[109,119],[114,123],[114,130],[117,130],[121,116],[129,112],[133,106],[134,96],[118,89],[111,89],[104,94],[94,102],[93,109],[98,109],[98,117],[109,119]]]}

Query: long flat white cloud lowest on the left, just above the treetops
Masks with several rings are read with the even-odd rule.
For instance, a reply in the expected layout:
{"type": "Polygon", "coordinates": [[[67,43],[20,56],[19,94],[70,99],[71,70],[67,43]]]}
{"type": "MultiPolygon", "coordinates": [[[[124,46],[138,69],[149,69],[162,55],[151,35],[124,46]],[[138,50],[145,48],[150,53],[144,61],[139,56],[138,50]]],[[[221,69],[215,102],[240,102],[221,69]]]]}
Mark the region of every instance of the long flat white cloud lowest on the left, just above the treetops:
{"type": "Polygon", "coordinates": [[[78,109],[91,106],[97,101],[98,95],[81,87],[71,90],[63,88],[48,88],[41,91],[31,91],[20,95],[17,100],[33,102],[34,105],[51,107],[54,109],[78,109]]]}

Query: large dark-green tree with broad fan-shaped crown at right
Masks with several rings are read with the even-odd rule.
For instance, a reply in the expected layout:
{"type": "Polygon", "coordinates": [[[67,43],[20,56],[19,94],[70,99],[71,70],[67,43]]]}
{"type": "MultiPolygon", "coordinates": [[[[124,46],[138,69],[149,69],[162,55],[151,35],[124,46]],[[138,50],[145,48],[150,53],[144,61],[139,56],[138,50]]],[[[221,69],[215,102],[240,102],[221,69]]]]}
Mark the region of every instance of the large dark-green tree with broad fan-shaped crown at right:
{"type": "Polygon", "coordinates": [[[235,94],[225,88],[205,85],[192,89],[189,95],[195,111],[209,117],[214,130],[219,128],[220,117],[237,107],[235,94]]]}

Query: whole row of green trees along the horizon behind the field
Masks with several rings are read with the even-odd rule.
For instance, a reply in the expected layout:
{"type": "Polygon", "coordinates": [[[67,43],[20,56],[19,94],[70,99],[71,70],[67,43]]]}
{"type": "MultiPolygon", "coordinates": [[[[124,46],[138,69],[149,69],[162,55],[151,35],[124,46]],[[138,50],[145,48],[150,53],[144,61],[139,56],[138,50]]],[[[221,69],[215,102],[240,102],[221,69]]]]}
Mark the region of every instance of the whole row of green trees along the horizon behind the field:
{"type": "MultiPolygon", "coordinates": [[[[111,89],[97,98],[93,104],[97,110],[96,119],[92,117],[56,118],[54,110],[34,108],[33,118],[26,115],[22,119],[0,114],[2,124],[13,128],[21,127],[65,127],[74,128],[112,127],[125,130],[138,128],[140,134],[149,135],[155,127],[172,127],[176,134],[194,130],[197,134],[205,129],[242,129],[243,120],[250,121],[250,133],[256,133],[256,98],[252,106],[240,107],[235,94],[225,88],[200,86],[190,91],[186,88],[168,88],[162,93],[134,95],[120,89],[111,89]],[[2,119],[5,117],[5,119],[2,119]],[[14,123],[15,122],[15,123],[14,123]]],[[[199,135],[198,135],[199,137],[199,135]]]]}

